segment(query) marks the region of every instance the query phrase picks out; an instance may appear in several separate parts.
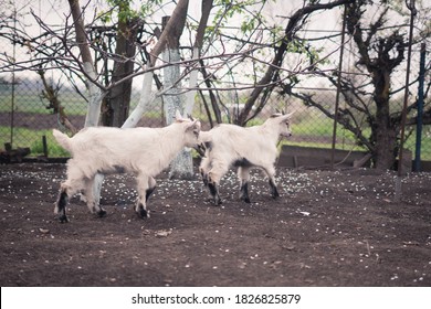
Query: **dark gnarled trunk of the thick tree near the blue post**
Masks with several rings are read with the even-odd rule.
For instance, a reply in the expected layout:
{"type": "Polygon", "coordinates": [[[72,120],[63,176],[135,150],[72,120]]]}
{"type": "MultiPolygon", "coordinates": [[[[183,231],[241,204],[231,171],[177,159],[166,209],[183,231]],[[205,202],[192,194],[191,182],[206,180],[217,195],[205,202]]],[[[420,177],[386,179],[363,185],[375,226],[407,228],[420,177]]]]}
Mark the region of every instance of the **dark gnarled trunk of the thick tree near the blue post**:
{"type": "Polygon", "coordinates": [[[398,129],[400,116],[391,115],[390,86],[391,73],[403,61],[406,43],[402,35],[393,32],[386,38],[376,38],[377,29],[381,26],[387,10],[383,10],[378,20],[369,26],[365,38],[360,19],[364,13],[364,2],[354,2],[347,7],[347,31],[353,36],[358,51],[358,64],[370,73],[375,87],[375,115],[367,115],[371,128],[370,152],[375,168],[378,170],[392,169],[398,153],[398,129]],[[371,42],[371,39],[374,42],[371,42]],[[375,50],[376,56],[370,56],[375,50]]]}

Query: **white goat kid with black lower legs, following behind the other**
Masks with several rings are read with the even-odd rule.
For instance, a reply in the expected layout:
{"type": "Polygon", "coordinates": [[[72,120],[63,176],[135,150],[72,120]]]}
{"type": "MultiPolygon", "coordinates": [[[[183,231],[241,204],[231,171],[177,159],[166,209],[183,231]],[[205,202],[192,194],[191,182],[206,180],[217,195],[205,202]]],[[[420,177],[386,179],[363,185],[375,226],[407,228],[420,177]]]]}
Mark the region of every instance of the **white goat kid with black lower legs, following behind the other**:
{"type": "Polygon", "coordinates": [[[135,211],[149,216],[146,202],[156,188],[154,179],[166,169],[185,147],[197,148],[200,122],[182,118],[164,128],[84,128],[72,138],[53,130],[57,142],[69,150],[67,180],[61,184],[54,212],[60,222],[67,222],[69,196],[84,190],[92,213],[104,216],[106,211],[95,203],[93,185],[96,173],[130,172],[136,175],[138,199],[135,211]]]}

